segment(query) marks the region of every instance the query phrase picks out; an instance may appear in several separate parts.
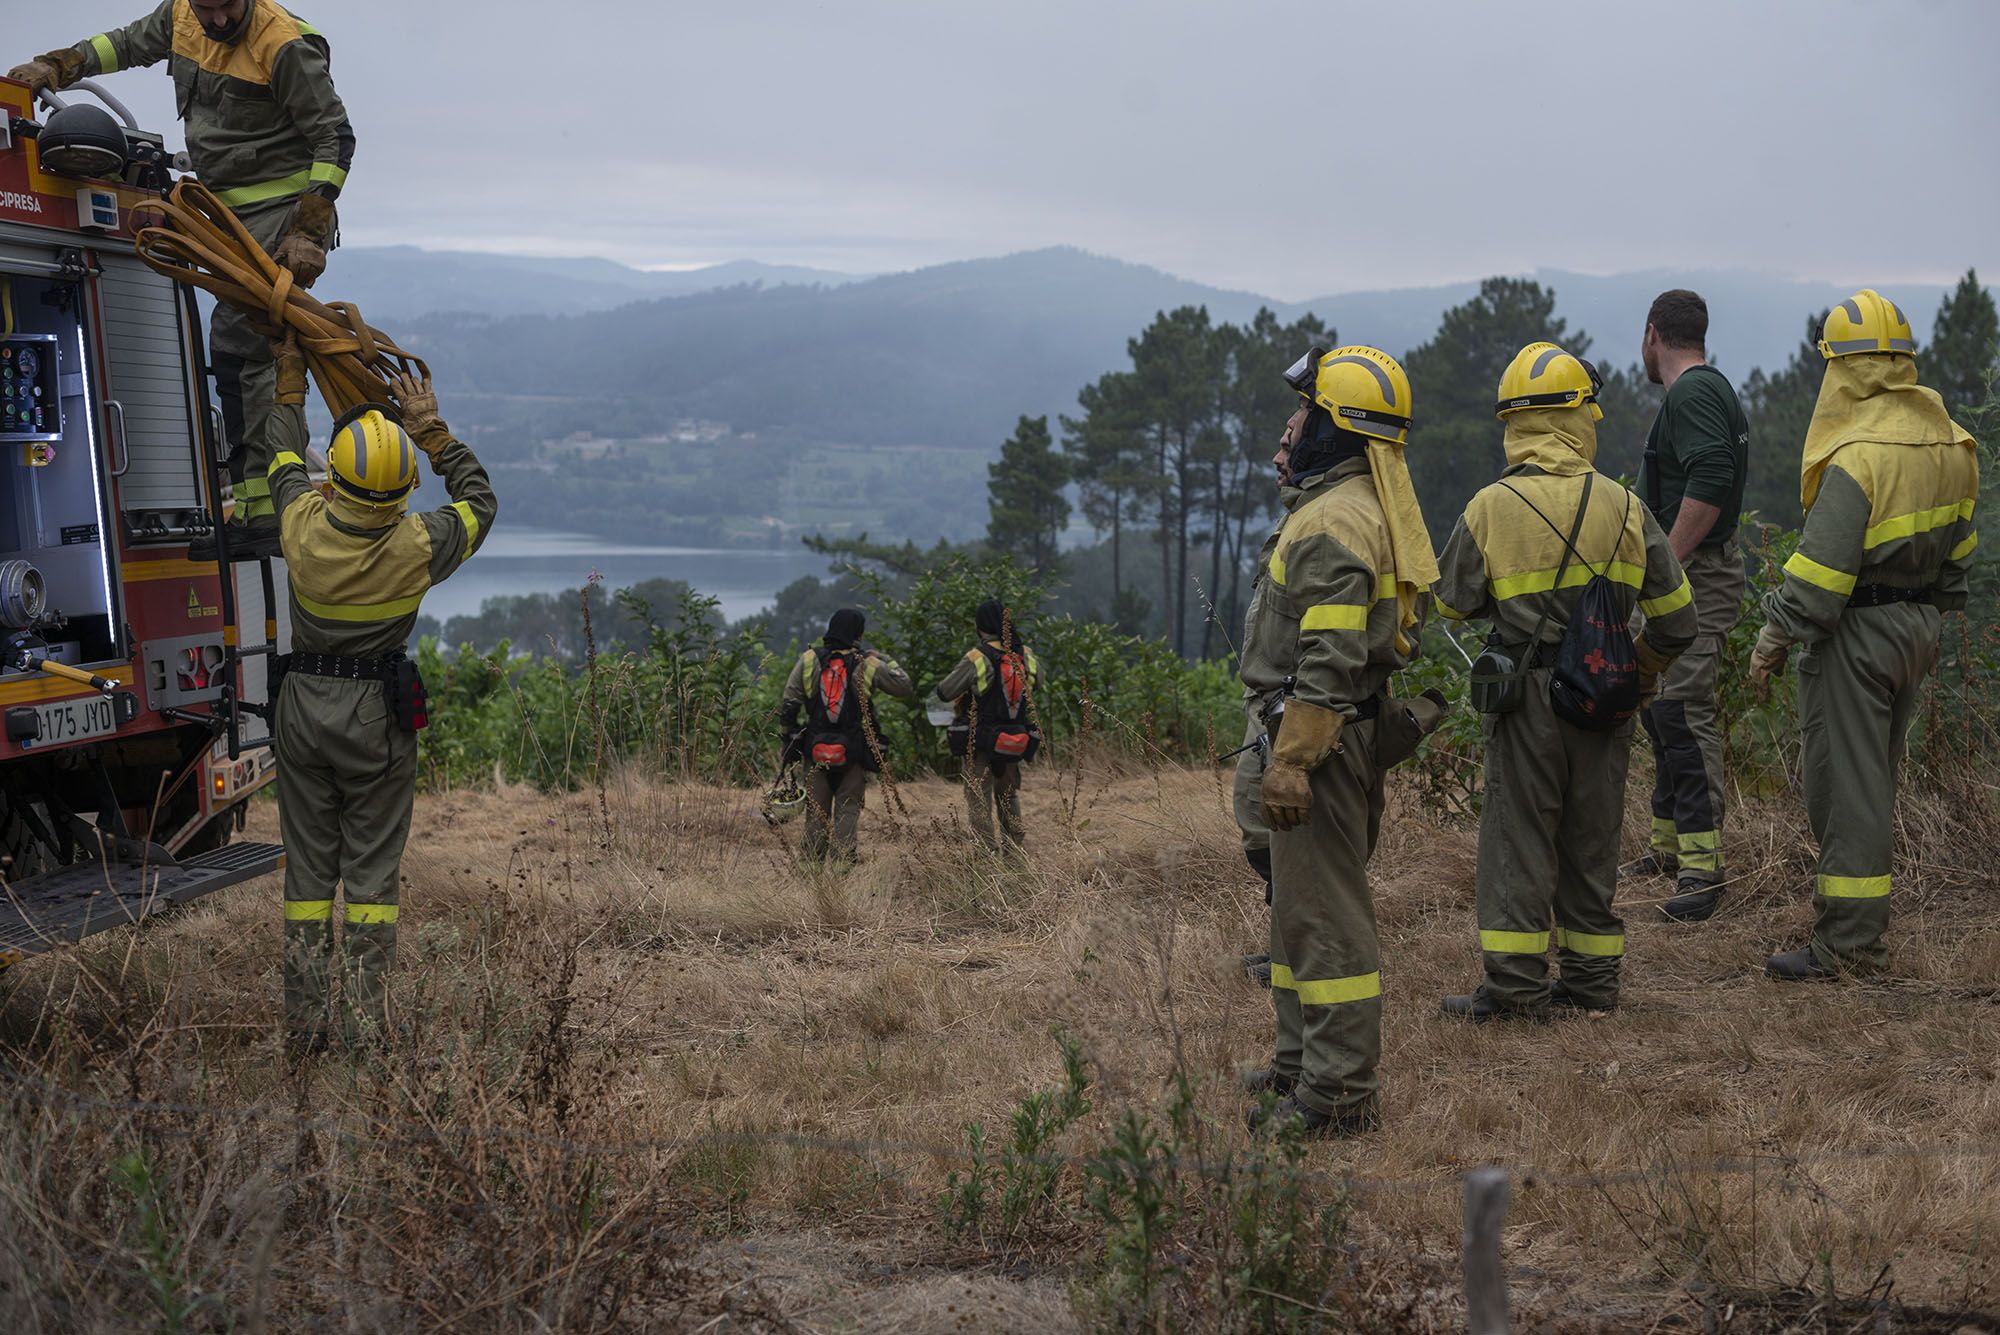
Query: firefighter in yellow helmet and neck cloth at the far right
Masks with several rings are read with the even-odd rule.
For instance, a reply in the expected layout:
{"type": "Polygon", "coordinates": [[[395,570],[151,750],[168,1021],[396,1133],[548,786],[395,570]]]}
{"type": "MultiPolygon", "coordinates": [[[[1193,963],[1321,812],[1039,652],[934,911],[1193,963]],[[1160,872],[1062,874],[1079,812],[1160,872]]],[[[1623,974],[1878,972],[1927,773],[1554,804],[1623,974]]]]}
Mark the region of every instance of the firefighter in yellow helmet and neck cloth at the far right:
{"type": "Polygon", "coordinates": [[[1812,939],[1770,957],[1796,981],[1888,963],[1896,769],[1940,614],[1966,606],[1978,532],[1978,448],[1916,382],[1916,338],[1874,290],[1836,306],[1806,430],[1806,528],[1764,600],[1758,691],[1798,646],[1806,815],[1820,843],[1812,939]]]}

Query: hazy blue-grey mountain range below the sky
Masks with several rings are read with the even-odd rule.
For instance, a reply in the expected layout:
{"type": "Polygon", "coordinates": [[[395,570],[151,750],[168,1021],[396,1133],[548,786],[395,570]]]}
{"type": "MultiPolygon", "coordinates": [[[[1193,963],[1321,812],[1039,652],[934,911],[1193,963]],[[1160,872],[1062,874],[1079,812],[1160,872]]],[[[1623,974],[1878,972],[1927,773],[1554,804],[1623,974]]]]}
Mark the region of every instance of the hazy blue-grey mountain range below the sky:
{"type": "MultiPolygon", "coordinates": [[[[1654,294],[1700,290],[1712,352],[1736,378],[1782,364],[1808,314],[1852,290],[1732,272],[1534,276],[1554,288],[1570,332],[1588,332],[1592,354],[1616,364],[1638,360],[1654,294]]],[[[324,286],[420,348],[446,394],[486,400],[482,416],[502,402],[508,412],[538,404],[538,428],[636,434],[700,418],[828,446],[980,452],[1018,414],[1074,410],[1076,390],[1120,366],[1126,340],[1166,308],[1206,306],[1218,322],[1248,320],[1260,306],[1286,320],[1312,310],[1342,340],[1402,354],[1478,290],[1464,282],[1274,302],[1068,248],[866,280],[756,264],[654,274],[602,260],[348,248],[324,286]]],[[[1890,292],[1922,338],[1942,288],[1890,292]]]]}

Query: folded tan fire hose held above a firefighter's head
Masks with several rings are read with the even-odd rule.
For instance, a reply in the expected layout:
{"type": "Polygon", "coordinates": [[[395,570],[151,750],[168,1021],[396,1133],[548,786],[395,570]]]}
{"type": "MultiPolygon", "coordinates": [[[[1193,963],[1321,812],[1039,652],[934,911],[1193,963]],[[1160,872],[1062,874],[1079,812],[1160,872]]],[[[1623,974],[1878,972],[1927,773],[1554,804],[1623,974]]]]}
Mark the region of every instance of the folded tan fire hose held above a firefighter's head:
{"type": "Polygon", "coordinates": [[[200,182],[184,180],[160,204],[136,214],[164,214],[134,242],[138,258],[178,284],[228,302],[278,338],[290,330],[306,356],[312,384],[336,418],[360,404],[394,404],[390,376],[428,376],[430,368],[374,330],[346,302],[320,302],[258,246],[222,200],[200,182]]]}

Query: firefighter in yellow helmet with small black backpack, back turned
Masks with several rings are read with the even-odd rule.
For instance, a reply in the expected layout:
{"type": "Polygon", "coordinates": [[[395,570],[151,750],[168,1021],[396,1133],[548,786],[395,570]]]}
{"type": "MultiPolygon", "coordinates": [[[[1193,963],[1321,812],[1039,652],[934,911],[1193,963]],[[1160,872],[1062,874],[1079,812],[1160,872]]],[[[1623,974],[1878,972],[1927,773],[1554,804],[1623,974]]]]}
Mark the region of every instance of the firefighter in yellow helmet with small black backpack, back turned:
{"type": "Polygon", "coordinates": [[[1444,999],[1460,1019],[1546,1021],[1552,1003],[1618,1003],[1624,923],[1612,893],[1632,717],[1698,622],[1652,510],[1594,468],[1596,396],[1596,372],[1580,358],[1556,344],[1520,350],[1494,408],[1508,468],[1472,498],[1438,560],[1438,612],[1492,624],[1472,675],[1486,713],[1474,895],[1486,981],[1444,999]],[[1582,683],[1556,675],[1572,622],[1622,632],[1634,608],[1646,628],[1628,658],[1594,646],[1582,683]],[[1602,711],[1578,723],[1582,705],[1602,711]],[[1554,983],[1550,943],[1562,965],[1554,983]]]}

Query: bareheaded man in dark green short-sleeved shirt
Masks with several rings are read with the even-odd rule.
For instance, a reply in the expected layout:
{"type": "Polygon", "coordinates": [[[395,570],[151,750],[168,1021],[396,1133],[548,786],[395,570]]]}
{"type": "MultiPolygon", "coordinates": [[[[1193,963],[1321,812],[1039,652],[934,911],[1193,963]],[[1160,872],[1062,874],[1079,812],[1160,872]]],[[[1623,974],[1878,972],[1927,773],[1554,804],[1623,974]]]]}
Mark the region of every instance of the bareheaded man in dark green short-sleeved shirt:
{"type": "Polygon", "coordinates": [[[1716,675],[1730,628],[1742,612],[1744,562],[1736,546],[1750,422],[1728,378],[1708,366],[1708,302],[1662,292],[1646,314],[1640,356],[1666,402],[1646,436],[1640,494],[1688,572],[1700,634],[1660,679],[1642,713],[1652,737],[1652,843],[1628,875],[1676,875],[1664,911],[1702,921],[1728,879],[1722,861],[1722,727],[1716,675]]]}

